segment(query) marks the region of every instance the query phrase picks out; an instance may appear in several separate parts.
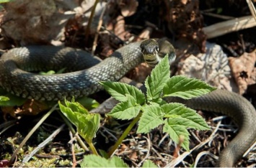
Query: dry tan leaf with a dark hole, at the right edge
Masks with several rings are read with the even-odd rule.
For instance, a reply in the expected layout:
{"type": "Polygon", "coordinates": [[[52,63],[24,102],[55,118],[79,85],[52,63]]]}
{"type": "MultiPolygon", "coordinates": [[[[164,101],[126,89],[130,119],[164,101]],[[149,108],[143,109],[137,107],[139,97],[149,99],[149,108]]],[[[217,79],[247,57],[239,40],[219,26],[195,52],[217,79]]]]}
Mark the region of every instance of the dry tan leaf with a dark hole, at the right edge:
{"type": "Polygon", "coordinates": [[[255,69],[256,50],[251,53],[244,52],[240,57],[229,57],[229,65],[234,79],[239,87],[239,94],[247,90],[247,85],[255,69]]]}

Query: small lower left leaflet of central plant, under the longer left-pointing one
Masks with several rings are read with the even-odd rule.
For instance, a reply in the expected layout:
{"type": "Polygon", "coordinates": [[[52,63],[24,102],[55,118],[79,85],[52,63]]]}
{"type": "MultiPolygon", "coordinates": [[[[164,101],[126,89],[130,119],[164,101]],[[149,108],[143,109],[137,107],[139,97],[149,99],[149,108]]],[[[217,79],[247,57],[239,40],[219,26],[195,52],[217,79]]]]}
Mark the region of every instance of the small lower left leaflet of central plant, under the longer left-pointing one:
{"type": "Polygon", "coordinates": [[[136,103],[131,95],[126,95],[126,97],[127,101],[118,103],[107,115],[121,120],[130,120],[138,116],[138,113],[141,111],[141,106],[136,103]]]}

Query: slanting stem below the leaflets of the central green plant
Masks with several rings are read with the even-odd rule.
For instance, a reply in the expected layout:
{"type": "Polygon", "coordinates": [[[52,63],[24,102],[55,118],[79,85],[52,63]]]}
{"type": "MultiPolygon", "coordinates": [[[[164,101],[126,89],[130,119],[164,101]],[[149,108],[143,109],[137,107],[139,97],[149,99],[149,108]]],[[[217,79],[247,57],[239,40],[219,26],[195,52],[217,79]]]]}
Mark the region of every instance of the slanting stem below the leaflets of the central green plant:
{"type": "Polygon", "coordinates": [[[112,154],[115,152],[115,149],[118,149],[118,146],[122,143],[123,139],[130,133],[131,129],[133,129],[133,126],[138,122],[139,118],[141,118],[142,112],[138,113],[138,116],[131,121],[129,126],[125,129],[122,136],[118,139],[117,142],[115,142],[115,145],[110,148],[110,151],[107,153],[108,157],[111,157],[112,154]]]}

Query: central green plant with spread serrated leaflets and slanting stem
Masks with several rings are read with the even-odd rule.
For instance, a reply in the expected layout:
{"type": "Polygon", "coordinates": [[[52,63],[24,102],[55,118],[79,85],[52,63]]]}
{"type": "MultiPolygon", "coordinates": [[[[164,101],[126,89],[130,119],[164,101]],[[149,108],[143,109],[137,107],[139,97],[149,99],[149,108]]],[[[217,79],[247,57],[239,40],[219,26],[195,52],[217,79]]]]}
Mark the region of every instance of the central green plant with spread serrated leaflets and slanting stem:
{"type": "MultiPolygon", "coordinates": [[[[189,133],[187,128],[198,130],[209,129],[206,121],[196,111],[185,107],[181,103],[167,103],[164,101],[164,98],[177,96],[190,99],[209,93],[216,88],[212,88],[210,85],[195,78],[190,79],[180,75],[169,78],[169,75],[169,61],[166,56],[152,70],[151,75],[146,78],[146,94],[142,93],[138,88],[125,83],[100,82],[113,98],[120,101],[107,115],[121,120],[133,119],[122,136],[120,136],[120,139],[118,139],[116,144],[108,152],[108,157],[112,156],[112,153],[118,148],[136,123],[138,123],[137,133],[144,134],[149,133],[152,129],[163,124],[163,131],[167,132],[173,141],[181,144],[186,150],[189,150],[189,133]],[[180,141],[181,138],[183,141],[180,141]]],[[[67,110],[63,108],[61,103],[59,104],[62,112],[67,110]]],[[[67,101],[66,105],[70,106],[67,104],[67,101]]],[[[79,106],[79,108],[81,107],[79,106]]],[[[69,113],[72,113],[72,111],[69,110],[69,113]]],[[[66,114],[66,116],[75,119],[70,114],[66,114]]],[[[81,121],[71,122],[77,126],[77,123],[81,121]]],[[[87,123],[82,122],[78,123],[78,125],[84,124],[84,127],[92,128],[94,130],[93,132],[96,133],[93,127],[86,126],[87,123]]],[[[87,159],[88,162],[90,162],[89,160],[87,159]]]]}

